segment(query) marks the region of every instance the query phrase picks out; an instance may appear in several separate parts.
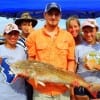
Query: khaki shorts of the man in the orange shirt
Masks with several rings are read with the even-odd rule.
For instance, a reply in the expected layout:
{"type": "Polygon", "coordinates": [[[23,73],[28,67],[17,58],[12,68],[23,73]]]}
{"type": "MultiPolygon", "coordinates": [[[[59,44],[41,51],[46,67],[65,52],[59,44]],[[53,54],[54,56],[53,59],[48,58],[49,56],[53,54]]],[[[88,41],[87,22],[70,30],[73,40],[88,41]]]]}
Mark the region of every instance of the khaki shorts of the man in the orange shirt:
{"type": "Polygon", "coordinates": [[[70,93],[67,91],[64,94],[51,96],[46,94],[41,94],[34,90],[33,100],[70,100],[70,93]]]}

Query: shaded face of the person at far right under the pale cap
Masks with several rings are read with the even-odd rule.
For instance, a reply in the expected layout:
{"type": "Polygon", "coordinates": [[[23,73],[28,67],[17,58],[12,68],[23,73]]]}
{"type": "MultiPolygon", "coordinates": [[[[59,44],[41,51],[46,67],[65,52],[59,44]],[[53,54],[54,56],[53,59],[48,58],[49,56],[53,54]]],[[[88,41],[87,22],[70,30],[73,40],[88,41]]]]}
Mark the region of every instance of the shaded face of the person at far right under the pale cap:
{"type": "Polygon", "coordinates": [[[84,39],[89,43],[92,44],[96,41],[96,28],[92,27],[84,27],[83,28],[83,34],[84,34],[84,39]]]}

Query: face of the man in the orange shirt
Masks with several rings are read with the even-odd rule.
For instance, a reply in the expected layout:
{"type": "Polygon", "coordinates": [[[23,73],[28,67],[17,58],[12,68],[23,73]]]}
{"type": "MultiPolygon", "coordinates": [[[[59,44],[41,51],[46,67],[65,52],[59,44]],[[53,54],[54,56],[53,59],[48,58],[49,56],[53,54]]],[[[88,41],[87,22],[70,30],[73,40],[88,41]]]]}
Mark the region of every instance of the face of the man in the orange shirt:
{"type": "Polygon", "coordinates": [[[59,20],[61,18],[61,13],[56,9],[52,9],[49,12],[46,12],[44,17],[46,19],[46,24],[54,27],[58,26],[59,20]]]}

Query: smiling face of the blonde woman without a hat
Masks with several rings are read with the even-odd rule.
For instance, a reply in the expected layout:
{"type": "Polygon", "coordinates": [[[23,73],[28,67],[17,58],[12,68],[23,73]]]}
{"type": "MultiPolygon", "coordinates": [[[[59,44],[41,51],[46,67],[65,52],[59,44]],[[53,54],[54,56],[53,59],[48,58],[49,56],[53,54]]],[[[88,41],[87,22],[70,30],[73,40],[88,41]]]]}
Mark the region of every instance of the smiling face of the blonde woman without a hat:
{"type": "Polygon", "coordinates": [[[80,26],[76,20],[71,20],[69,22],[68,31],[73,37],[77,37],[80,32],[80,26]]]}

